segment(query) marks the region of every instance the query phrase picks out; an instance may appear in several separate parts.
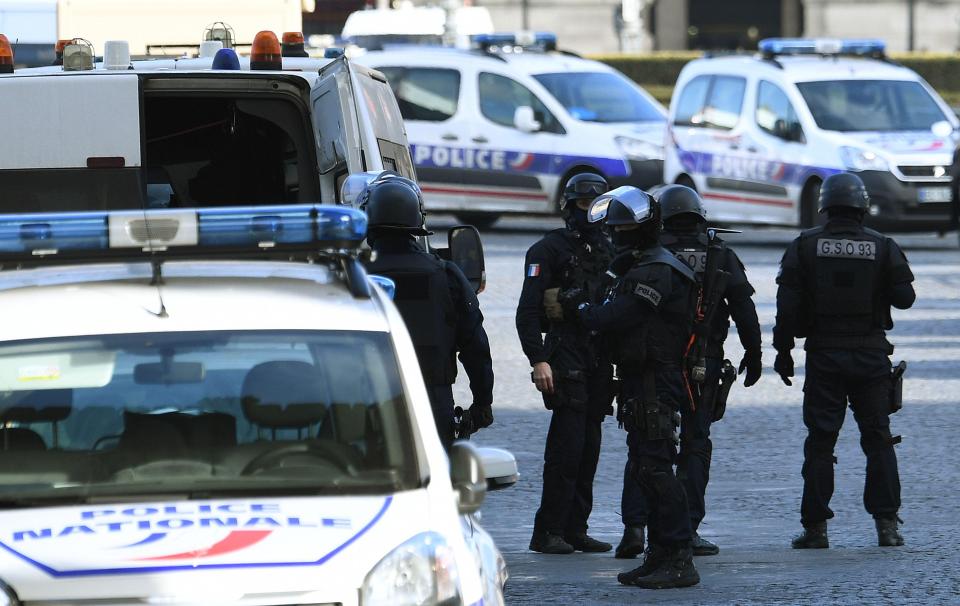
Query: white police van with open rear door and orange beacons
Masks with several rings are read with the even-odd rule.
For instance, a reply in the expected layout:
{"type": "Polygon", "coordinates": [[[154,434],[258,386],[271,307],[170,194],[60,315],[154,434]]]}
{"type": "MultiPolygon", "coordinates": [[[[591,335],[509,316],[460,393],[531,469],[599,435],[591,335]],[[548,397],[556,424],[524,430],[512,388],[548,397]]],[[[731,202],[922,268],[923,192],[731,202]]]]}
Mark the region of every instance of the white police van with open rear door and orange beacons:
{"type": "Polygon", "coordinates": [[[306,58],[302,36],[151,61],[68,42],[62,65],[14,71],[0,40],[0,212],[339,202],[350,174],[415,177],[383,75],[306,58]]]}

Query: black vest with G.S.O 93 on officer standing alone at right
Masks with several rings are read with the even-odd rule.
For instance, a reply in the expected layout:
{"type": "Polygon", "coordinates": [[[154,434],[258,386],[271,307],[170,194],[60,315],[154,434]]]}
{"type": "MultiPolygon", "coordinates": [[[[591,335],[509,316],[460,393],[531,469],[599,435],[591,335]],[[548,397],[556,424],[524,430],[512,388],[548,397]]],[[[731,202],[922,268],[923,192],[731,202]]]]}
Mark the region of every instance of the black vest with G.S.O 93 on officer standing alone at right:
{"type": "Polygon", "coordinates": [[[800,236],[800,265],[808,293],[804,321],[808,338],[866,337],[888,328],[882,300],[887,239],[855,225],[833,224],[800,236]]]}

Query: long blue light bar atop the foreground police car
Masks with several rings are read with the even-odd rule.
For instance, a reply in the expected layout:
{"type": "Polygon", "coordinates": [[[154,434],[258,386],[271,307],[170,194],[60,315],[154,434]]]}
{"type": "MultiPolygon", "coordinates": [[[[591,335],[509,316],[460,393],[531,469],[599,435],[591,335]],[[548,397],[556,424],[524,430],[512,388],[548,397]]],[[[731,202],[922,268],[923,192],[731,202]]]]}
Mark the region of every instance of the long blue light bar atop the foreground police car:
{"type": "Polygon", "coordinates": [[[360,247],[367,216],[314,204],[0,215],[0,255],[136,255],[178,249],[203,256],[282,247],[341,253],[360,247]],[[127,252],[124,252],[127,251],[127,252]]]}

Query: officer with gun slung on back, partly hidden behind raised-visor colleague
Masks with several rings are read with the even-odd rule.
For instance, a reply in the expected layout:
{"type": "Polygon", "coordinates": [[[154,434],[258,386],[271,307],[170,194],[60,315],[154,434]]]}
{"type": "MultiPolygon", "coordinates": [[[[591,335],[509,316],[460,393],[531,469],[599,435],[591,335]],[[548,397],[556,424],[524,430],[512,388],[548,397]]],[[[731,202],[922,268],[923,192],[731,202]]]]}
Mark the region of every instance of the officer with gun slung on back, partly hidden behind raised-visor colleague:
{"type": "MultiPolygon", "coordinates": [[[[663,246],[680,260],[690,265],[701,292],[699,320],[703,330],[697,331],[695,350],[689,353],[691,365],[703,364],[702,380],[691,381],[693,405],[682,409],[680,457],[677,477],[683,482],[690,505],[690,526],[693,530],[693,555],[715,555],[720,548],[702,538],[697,532],[706,512],[704,496],[710,480],[710,461],[713,443],[710,425],[723,417],[726,394],[735,374],[733,367],[724,364],[723,343],[730,330],[730,319],[737,324],[737,333],[743,345],[744,356],[739,372],[746,372],[744,386],[751,387],[763,371],[760,353],[760,322],[757,308],[751,298],[753,286],[747,280],[743,263],[733,249],[716,232],[708,232],[706,212],[700,196],[683,185],[668,185],[654,194],[663,213],[663,246]],[[722,272],[722,273],[721,273],[722,272]],[[707,279],[706,276],[711,276],[707,279]],[[721,279],[722,276],[722,279],[721,279]],[[724,373],[726,368],[727,372],[724,373]],[[721,382],[722,379],[722,382],[721,382]]],[[[696,368],[691,369],[692,375],[696,368]]],[[[624,538],[617,548],[619,557],[632,557],[643,550],[641,526],[647,519],[642,498],[635,495],[636,484],[624,479],[623,515],[624,538]]]]}

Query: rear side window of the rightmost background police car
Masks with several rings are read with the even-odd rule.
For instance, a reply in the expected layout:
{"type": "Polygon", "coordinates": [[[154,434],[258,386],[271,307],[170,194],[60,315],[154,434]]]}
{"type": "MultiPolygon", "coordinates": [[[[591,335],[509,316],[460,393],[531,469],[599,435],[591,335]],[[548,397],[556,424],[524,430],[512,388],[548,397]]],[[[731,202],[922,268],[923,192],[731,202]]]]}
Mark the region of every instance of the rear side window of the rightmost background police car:
{"type": "Polygon", "coordinates": [[[674,124],[730,130],[740,119],[746,88],[736,76],[697,76],[680,93],[674,124]]]}

